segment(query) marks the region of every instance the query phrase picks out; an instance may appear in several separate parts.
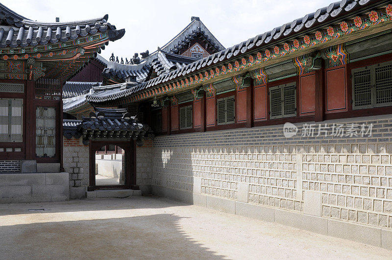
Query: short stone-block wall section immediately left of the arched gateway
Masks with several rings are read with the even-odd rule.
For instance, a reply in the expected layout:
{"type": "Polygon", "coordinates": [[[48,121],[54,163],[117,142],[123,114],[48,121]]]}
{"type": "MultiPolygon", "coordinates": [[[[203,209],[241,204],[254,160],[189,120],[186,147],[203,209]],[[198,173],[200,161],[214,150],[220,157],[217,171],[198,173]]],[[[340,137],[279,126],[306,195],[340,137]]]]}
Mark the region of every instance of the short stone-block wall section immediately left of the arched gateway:
{"type": "Polygon", "coordinates": [[[89,146],[81,138],[65,137],[63,145],[64,170],[70,174],[70,198],[82,198],[89,186],[89,146]]]}

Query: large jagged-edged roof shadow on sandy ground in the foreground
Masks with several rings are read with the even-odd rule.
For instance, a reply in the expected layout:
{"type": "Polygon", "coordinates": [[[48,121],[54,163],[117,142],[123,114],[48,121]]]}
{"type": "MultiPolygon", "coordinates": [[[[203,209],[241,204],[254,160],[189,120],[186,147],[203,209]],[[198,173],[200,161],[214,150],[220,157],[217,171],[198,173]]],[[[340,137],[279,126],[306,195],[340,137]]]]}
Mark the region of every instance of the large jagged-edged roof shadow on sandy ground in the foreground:
{"type": "Polygon", "coordinates": [[[155,214],[3,226],[0,259],[223,258],[186,236],[181,218],[155,214]]]}

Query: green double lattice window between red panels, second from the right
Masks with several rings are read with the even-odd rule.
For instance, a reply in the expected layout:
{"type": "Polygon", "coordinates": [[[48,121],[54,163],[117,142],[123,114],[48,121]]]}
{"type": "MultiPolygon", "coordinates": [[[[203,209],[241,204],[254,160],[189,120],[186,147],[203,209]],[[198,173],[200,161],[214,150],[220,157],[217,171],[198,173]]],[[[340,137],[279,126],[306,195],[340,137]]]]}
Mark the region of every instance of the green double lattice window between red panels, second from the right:
{"type": "Polygon", "coordinates": [[[295,83],[270,88],[270,118],[286,118],[296,115],[295,83]]]}

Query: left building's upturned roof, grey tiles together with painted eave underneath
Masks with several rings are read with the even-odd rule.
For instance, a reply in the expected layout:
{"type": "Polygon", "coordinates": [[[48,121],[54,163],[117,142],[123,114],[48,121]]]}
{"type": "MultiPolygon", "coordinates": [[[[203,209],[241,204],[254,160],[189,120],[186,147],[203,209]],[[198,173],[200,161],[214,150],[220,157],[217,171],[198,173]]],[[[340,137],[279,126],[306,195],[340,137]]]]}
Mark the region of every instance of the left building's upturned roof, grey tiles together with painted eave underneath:
{"type": "Polygon", "coordinates": [[[109,41],[123,37],[125,30],[116,29],[107,19],[108,15],[66,23],[37,22],[0,4],[0,24],[6,25],[0,28],[0,61],[6,67],[25,67],[25,71],[6,71],[2,77],[59,78],[65,82],[109,41]],[[32,73],[37,70],[41,73],[32,73]]]}

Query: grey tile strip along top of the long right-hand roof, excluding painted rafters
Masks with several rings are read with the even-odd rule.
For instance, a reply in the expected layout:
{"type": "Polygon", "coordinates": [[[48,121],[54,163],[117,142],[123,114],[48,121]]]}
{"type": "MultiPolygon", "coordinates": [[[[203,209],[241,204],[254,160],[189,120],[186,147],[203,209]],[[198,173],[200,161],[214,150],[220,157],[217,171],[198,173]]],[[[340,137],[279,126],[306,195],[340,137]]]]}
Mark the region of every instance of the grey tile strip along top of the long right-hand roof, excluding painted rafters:
{"type": "Polygon", "coordinates": [[[354,16],[362,13],[370,8],[381,7],[388,1],[386,0],[341,0],[330,5],[318,9],[314,13],[305,15],[302,18],[295,19],[291,23],[283,24],[282,26],[273,28],[270,31],[256,35],[244,42],[241,42],[232,47],[221,50],[220,52],[209,55],[206,58],[195,61],[187,66],[170,71],[169,73],[162,73],[158,77],[140,83],[137,86],[123,89],[120,84],[117,86],[117,91],[111,89],[107,93],[94,93],[87,96],[90,102],[106,102],[108,100],[115,100],[135,94],[137,92],[152,88],[157,85],[163,85],[173,79],[183,78],[196,71],[206,70],[210,65],[224,63],[225,61],[238,58],[243,54],[253,53],[254,51],[263,47],[269,47],[271,44],[281,43],[287,38],[292,38],[294,35],[301,35],[309,30],[326,26],[328,24],[337,23],[348,16],[354,16]]]}

